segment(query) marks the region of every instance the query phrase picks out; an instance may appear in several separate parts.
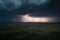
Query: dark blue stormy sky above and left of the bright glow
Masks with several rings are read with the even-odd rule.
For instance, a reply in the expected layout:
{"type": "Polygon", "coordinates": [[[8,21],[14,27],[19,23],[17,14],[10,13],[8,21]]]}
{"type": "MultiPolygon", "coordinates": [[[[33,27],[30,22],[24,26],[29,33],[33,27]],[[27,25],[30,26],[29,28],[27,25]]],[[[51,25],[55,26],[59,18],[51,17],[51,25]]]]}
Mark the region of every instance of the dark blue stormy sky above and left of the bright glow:
{"type": "MultiPolygon", "coordinates": [[[[29,12],[22,6],[22,0],[0,0],[0,23],[15,22],[16,15],[31,14],[32,16],[50,16],[60,19],[60,0],[29,0],[29,12]],[[36,5],[34,7],[32,5],[36,5]]],[[[59,21],[60,22],[60,21],[59,21]]]]}

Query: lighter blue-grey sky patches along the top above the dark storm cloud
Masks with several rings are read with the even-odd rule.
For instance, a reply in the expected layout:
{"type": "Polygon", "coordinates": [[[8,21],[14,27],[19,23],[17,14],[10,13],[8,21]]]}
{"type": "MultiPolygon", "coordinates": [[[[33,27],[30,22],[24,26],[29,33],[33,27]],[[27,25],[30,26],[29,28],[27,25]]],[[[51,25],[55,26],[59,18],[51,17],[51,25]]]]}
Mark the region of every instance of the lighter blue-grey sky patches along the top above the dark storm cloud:
{"type": "MultiPolygon", "coordinates": [[[[29,0],[29,4],[41,5],[50,2],[49,0],[29,0]]],[[[21,6],[21,0],[0,0],[0,9],[14,10],[21,6]],[[7,6],[8,5],[8,6],[7,6]]]]}

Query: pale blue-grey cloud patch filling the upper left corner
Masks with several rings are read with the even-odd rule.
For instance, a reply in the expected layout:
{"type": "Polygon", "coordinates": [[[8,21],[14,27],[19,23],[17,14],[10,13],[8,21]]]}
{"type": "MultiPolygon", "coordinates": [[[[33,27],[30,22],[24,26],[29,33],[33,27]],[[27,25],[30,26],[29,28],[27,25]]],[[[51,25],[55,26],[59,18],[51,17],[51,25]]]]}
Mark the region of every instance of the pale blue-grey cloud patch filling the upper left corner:
{"type": "Polygon", "coordinates": [[[0,0],[0,9],[14,10],[21,6],[21,0],[0,0]]]}

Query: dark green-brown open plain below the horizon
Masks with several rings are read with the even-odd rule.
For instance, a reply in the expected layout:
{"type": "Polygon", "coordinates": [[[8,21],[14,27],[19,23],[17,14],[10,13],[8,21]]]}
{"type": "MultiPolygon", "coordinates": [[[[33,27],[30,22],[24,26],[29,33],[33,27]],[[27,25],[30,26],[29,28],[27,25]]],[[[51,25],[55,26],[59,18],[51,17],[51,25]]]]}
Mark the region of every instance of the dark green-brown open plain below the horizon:
{"type": "Polygon", "coordinates": [[[60,23],[0,24],[3,40],[60,40],[60,23]]]}

